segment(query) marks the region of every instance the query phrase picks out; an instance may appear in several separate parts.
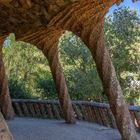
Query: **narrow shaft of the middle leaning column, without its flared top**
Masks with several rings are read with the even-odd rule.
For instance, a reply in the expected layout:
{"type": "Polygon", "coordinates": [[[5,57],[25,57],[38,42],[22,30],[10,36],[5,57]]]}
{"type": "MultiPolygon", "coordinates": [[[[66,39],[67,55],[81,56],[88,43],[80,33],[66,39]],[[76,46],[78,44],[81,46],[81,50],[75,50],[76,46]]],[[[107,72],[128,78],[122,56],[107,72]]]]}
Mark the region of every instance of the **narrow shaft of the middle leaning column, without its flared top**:
{"type": "Polygon", "coordinates": [[[61,108],[63,110],[64,118],[67,123],[75,123],[74,111],[72,108],[72,103],[70,96],[68,94],[67,85],[65,82],[64,74],[58,59],[58,49],[57,45],[54,44],[51,47],[48,54],[45,54],[53,75],[53,79],[56,85],[56,90],[58,93],[61,108]],[[51,50],[53,49],[53,50],[51,50]]]}

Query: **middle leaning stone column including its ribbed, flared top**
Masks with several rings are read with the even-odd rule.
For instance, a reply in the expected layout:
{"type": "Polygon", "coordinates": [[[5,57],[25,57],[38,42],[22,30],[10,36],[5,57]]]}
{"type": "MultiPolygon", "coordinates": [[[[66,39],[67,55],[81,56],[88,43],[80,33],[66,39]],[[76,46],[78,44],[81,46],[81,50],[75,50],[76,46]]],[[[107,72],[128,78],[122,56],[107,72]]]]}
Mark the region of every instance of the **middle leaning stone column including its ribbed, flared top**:
{"type": "Polygon", "coordinates": [[[22,40],[36,45],[48,59],[64,119],[67,123],[75,123],[71,99],[58,56],[59,38],[63,33],[62,29],[49,27],[30,34],[22,40]]]}

